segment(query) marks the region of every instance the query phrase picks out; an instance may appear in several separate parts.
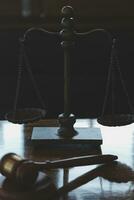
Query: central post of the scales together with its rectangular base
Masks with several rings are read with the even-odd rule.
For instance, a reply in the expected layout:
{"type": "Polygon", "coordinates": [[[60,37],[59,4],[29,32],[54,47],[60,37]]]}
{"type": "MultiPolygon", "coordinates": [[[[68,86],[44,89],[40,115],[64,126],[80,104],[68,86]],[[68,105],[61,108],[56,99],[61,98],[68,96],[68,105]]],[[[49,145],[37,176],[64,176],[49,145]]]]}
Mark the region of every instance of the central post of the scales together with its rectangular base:
{"type": "Polygon", "coordinates": [[[71,61],[78,33],[74,29],[73,8],[64,6],[61,14],[62,28],[59,36],[64,52],[64,112],[58,115],[58,126],[34,127],[32,141],[36,147],[42,145],[49,148],[61,147],[68,151],[78,150],[79,153],[82,153],[100,147],[102,137],[99,128],[78,126],[74,128],[76,118],[70,108],[71,67],[73,67],[71,61]]]}

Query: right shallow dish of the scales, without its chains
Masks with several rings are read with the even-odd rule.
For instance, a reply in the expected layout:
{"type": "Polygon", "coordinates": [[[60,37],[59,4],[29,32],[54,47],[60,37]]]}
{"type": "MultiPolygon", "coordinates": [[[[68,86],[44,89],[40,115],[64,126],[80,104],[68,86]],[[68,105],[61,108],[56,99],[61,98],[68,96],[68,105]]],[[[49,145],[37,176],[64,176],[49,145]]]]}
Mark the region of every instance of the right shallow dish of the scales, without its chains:
{"type": "Polygon", "coordinates": [[[134,122],[133,114],[115,114],[98,117],[97,122],[103,126],[125,126],[134,122]]]}

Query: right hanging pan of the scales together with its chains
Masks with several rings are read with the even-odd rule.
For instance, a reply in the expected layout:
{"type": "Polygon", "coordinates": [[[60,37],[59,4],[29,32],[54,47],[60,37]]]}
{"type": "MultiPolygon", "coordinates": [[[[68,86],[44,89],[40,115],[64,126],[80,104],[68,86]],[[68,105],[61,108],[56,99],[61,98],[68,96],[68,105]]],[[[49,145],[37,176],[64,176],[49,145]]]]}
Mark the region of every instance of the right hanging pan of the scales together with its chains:
{"type": "MultiPolygon", "coordinates": [[[[121,90],[120,89],[120,90],[121,90]]],[[[122,104],[122,101],[120,101],[122,104]]],[[[125,85],[125,81],[123,79],[120,66],[119,66],[119,60],[117,56],[117,47],[116,47],[116,39],[113,39],[112,43],[112,50],[111,50],[111,58],[110,58],[110,66],[108,70],[108,77],[107,77],[107,84],[106,84],[106,92],[104,97],[104,103],[102,108],[102,114],[97,119],[98,123],[104,126],[124,126],[129,125],[134,122],[134,108],[130,101],[128,90],[125,85]],[[118,72],[118,77],[117,77],[118,72]],[[122,106],[121,112],[117,112],[118,105],[116,103],[117,94],[120,96],[120,94],[115,90],[117,89],[117,80],[118,85],[120,82],[121,89],[123,90],[123,99],[126,99],[126,104],[122,106]],[[110,93],[111,88],[111,93],[110,93]],[[108,95],[111,94],[111,113],[106,114],[106,105],[110,105],[108,103],[108,95]],[[116,94],[116,95],[115,95],[116,94]],[[115,97],[116,96],[116,97],[115,97]],[[124,108],[129,107],[130,112],[125,112],[124,108]],[[115,109],[116,108],[116,109],[115,109]]]]}

